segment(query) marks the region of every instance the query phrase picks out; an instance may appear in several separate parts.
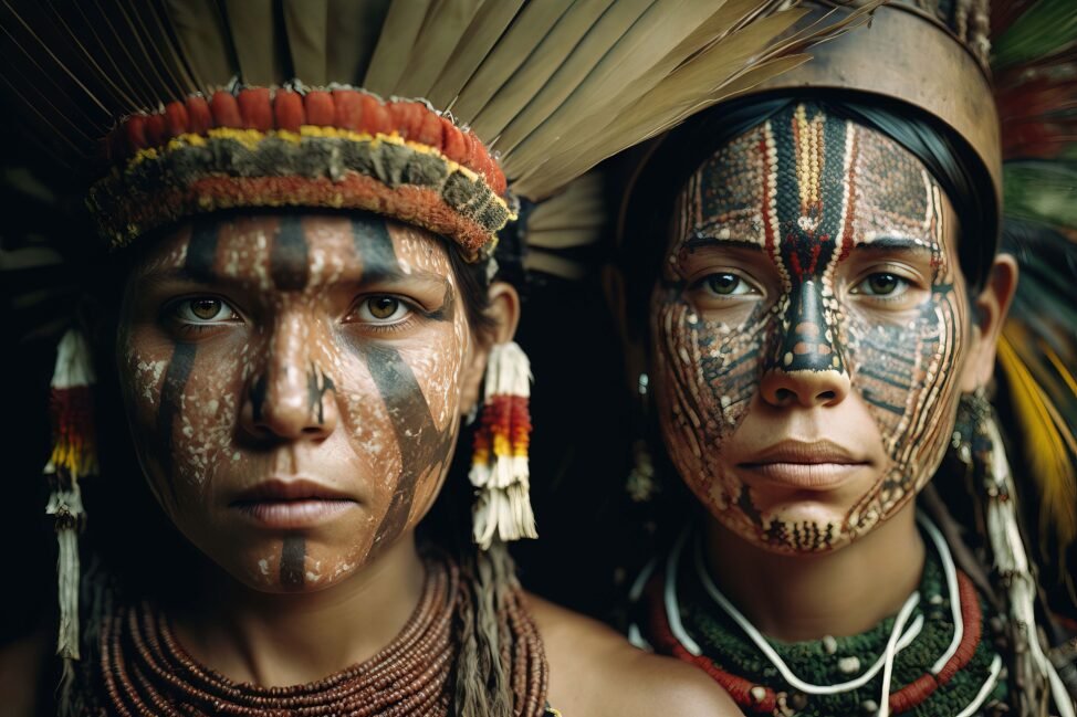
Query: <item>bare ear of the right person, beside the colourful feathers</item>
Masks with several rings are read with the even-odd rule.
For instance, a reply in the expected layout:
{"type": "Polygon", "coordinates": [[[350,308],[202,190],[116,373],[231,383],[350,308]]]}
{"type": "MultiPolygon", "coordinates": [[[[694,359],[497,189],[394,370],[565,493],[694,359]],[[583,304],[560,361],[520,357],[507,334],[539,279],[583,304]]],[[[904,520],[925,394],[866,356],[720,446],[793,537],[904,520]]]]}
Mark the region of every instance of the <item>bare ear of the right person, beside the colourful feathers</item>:
{"type": "Polygon", "coordinates": [[[972,344],[961,375],[961,390],[970,393],[986,386],[995,369],[995,349],[1006,321],[1010,302],[1017,289],[1017,262],[1008,254],[995,257],[987,282],[973,300],[972,344]]]}

